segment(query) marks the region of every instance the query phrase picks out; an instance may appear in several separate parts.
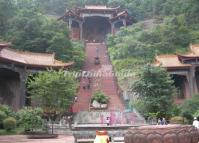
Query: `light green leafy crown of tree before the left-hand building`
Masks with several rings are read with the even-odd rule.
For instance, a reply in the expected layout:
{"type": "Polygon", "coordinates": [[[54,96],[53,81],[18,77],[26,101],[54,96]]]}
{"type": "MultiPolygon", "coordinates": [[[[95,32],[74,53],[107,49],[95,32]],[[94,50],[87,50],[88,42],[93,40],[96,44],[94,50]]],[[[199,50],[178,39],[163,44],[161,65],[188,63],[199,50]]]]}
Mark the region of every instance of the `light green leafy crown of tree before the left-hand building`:
{"type": "Polygon", "coordinates": [[[73,103],[77,83],[74,77],[63,70],[49,70],[32,77],[28,88],[34,101],[44,112],[66,111],[73,103]]]}

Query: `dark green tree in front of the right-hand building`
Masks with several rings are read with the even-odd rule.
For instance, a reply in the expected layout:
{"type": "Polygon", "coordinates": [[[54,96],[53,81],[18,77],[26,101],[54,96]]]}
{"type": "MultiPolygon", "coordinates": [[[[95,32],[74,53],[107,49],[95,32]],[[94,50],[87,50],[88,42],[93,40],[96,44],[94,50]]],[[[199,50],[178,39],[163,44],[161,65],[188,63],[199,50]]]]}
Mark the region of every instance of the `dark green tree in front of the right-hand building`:
{"type": "Polygon", "coordinates": [[[133,91],[145,102],[145,115],[159,113],[167,117],[173,103],[175,88],[167,72],[159,67],[146,66],[138,75],[133,91]]]}

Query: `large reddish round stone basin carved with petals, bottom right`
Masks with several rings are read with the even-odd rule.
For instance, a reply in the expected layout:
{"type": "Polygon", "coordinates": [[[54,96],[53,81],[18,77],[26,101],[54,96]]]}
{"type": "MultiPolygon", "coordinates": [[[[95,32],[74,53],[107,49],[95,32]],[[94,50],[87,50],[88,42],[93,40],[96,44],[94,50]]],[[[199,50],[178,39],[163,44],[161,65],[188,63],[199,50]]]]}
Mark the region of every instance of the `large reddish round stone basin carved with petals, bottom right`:
{"type": "Polygon", "coordinates": [[[152,125],[132,127],[125,143],[198,143],[199,133],[191,125],[152,125]]]}

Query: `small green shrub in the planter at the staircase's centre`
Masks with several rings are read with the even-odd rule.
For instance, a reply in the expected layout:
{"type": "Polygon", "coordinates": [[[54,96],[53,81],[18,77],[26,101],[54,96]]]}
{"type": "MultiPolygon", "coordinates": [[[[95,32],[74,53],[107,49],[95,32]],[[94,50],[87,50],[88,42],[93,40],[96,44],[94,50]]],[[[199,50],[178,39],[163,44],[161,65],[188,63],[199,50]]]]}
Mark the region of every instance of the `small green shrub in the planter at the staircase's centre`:
{"type": "Polygon", "coordinates": [[[96,100],[99,103],[105,104],[108,102],[108,99],[109,98],[106,95],[104,95],[104,93],[98,91],[92,96],[91,102],[96,100]]]}

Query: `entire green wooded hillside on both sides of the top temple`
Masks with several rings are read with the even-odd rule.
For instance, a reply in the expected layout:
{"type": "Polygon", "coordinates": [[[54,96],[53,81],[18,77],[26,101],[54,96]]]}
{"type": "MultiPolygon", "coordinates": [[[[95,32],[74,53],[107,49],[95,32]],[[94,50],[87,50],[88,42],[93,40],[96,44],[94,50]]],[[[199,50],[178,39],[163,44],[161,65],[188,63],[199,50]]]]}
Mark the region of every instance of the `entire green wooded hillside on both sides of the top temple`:
{"type": "Polygon", "coordinates": [[[198,0],[0,0],[0,39],[13,48],[55,52],[63,61],[84,60],[82,45],[69,40],[67,25],[46,15],[86,4],[120,6],[134,19],[107,39],[115,70],[135,71],[157,54],[183,53],[199,42],[198,0]]]}

